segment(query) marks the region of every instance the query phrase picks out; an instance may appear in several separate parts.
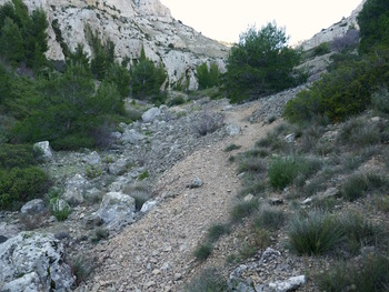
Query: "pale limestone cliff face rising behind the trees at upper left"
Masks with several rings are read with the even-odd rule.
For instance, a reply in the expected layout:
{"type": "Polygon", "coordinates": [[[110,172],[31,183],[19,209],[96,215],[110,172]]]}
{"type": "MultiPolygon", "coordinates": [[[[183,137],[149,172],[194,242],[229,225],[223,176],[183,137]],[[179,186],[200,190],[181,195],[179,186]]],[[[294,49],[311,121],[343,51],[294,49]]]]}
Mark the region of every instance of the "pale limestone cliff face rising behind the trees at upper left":
{"type": "MultiPolygon", "coordinates": [[[[0,0],[0,4],[8,1],[0,0]]],[[[22,1],[30,11],[42,8],[47,13],[50,23],[47,57],[51,60],[64,59],[57,41],[61,38],[70,50],[82,43],[91,54],[88,24],[103,41],[113,41],[118,61],[138,59],[143,48],[147,58],[164,64],[171,87],[196,89],[196,66],[203,62],[217,62],[225,70],[228,48],[173,19],[159,0],[22,1]]]]}

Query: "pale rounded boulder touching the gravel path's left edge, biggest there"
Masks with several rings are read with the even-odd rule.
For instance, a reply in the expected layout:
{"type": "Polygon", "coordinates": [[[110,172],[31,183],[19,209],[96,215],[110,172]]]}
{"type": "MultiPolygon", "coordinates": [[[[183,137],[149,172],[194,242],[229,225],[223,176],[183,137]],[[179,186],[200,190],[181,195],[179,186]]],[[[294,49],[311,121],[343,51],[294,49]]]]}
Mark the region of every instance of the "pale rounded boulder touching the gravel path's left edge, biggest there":
{"type": "Polygon", "coordinates": [[[109,192],[102,198],[99,210],[94,213],[108,229],[120,230],[132,223],[136,201],[132,197],[121,192],[109,192]]]}

